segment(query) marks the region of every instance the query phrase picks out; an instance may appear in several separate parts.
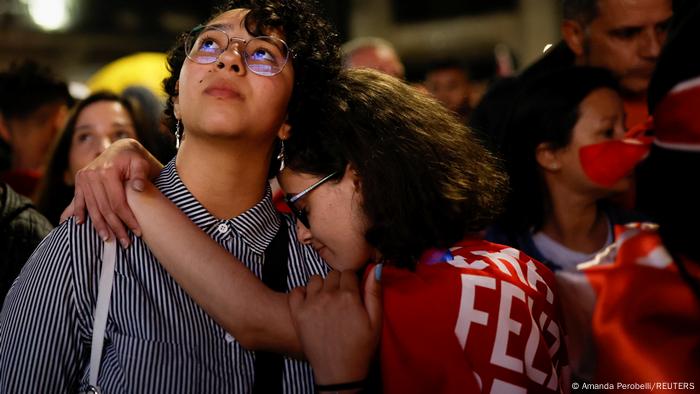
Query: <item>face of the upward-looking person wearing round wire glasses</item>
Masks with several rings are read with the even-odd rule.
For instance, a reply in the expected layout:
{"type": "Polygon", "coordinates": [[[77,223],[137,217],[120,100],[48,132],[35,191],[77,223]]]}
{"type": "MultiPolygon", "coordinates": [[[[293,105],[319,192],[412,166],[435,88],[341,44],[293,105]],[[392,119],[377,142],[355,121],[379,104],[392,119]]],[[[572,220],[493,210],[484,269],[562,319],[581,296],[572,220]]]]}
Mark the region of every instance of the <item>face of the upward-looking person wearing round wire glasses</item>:
{"type": "MultiPolygon", "coordinates": [[[[244,28],[247,10],[227,11],[208,26],[216,26],[231,38],[253,38],[244,28]]],[[[284,40],[278,31],[267,35],[284,40]]],[[[213,138],[248,138],[271,145],[283,124],[292,94],[294,69],[290,60],[282,72],[261,76],[250,72],[241,52],[242,43],[232,41],[212,64],[186,59],[180,71],[175,114],[185,133],[213,138]]],[[[186,143],[187,139],[185,139],[186,143]]]]}

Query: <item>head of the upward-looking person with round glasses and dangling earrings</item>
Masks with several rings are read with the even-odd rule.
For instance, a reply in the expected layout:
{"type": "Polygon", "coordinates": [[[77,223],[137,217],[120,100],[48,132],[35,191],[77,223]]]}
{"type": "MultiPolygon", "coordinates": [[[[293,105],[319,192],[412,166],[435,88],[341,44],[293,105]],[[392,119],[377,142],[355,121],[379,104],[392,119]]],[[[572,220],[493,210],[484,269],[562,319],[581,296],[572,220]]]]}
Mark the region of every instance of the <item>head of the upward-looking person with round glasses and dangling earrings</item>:
{"type": "MultiPolygon", "coordinates": [[[[185,139],[252,135],[251,143],[269,146],[275,157],[277,137],[286,138],[323,102],[340,55],[334,30],[310,2],[236,0],[182,34],[168,67],[171,130],[180,121],[185,139]]],[[[278,167],[271,160],[270,176],[278,167]]]]}

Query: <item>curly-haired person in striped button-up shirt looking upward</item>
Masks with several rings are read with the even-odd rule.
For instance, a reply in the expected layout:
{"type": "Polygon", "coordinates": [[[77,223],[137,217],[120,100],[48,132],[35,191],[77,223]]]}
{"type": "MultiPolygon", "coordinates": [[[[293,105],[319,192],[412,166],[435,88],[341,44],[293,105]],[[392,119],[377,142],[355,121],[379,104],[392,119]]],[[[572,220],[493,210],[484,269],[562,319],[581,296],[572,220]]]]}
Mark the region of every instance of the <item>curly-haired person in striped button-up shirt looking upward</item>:
{"type": "MultiPolygon", "coordinates": [[[[317,93],[340,69],[329,25],[307,1],[230,1],[183,34],[168,64],[167,115],[181,142],[170,163],[152,169],[163,198],[253,278],[273,267],[285,291],[325,274],[314,250],[293,241],[294,223],[277,215],[267,180],[290,129],[303,133],[317,93]]],[[[109,238],[68,220],[29,259],[0,314],[0,392],[313,390],[306,362],[246,350],[246,337],[207,316],[144,242],[119,237],[134,245],[110,258],[109,238]],[[98,292],[105,277],[112,285],[98,292]]],[[[296,338],[271,311],[251,313],[244,326],[274,334],[263,348],[296,338]]]]}

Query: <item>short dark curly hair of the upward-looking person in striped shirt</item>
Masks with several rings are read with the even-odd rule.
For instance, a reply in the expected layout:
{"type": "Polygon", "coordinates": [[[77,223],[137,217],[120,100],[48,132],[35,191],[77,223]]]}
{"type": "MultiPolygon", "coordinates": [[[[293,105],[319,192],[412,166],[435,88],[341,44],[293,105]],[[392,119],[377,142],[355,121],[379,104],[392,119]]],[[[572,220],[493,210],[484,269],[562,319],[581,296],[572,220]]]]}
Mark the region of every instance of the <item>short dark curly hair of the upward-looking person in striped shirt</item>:
{"type": "MultiPolygon", "coordinates": [[[[305,130],[296,127],[306,118],[315,116],[316,108],[323,104],[328,86],[340,71],[340,49],[335,29],[317,14],[309,0],[228,0],[217,6],[212,13],[218,15],[233,9],[244,8],[250,12],[245,17],[245,28],[253,36],[280,29],[292,54],[290,64],[294,67],[294,87],[288,107],[288,123],[293,133],[305,130]]],[[[169,96],[165,109],[169,128],[175,129],[173,98],[177,96],[176,83],[185,62],[184,43],[187,33],[178,37],[168,54],[170,77],[163,81],[169,96]]],[[[277,174],[279,162],[273,155],[269,177],[277,174]]]]}

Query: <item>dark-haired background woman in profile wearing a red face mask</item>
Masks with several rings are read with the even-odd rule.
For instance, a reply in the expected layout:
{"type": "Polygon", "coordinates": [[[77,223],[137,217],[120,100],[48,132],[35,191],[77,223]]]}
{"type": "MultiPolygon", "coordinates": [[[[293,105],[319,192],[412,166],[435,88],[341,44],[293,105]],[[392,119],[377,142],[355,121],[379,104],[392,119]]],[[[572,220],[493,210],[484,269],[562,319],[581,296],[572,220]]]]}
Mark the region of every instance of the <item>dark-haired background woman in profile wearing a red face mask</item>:
{"type": "Polygon", "coordinates": [[[633,216],[607,202],[632,186],[648,143],[625,137],[617,83],[602,69],[572,67],[524,88],[503,157],[511,192],[487,239],[518,248],[553,270],[575,271],[633,216]],[[627,144],[618,151],[616,144],[627,144]]]}

